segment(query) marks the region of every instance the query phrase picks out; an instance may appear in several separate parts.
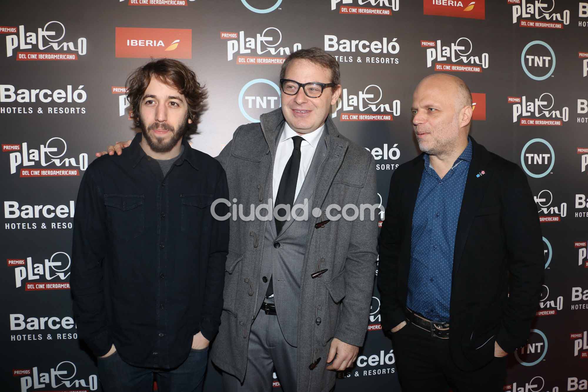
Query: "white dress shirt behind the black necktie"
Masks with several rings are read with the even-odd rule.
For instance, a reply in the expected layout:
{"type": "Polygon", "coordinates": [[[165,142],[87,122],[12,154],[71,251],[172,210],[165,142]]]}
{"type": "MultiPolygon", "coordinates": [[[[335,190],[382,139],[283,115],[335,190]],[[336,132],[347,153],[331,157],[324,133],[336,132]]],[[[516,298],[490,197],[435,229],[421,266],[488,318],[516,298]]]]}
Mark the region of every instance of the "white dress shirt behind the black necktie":
{"type": "Polygon", "coordinates": [[[284,130],[280,136],[278,148],[276,149],[276,159],[273,163],[273,201],[276,200],[276,195],[278,195],[278,188],[280,187],[280,180],[282,179],[284,168],[286,167],[286,164],[292,155],[292,151],[294,151],[294,142],[292,141],[292,137],[300,136],[304,139],[302,144],[300,144],[300,168],[298,169],[298,182],[296,182],[296,194],[294,195],[294,200],[296,200],[298,197],[298,192],[300,192],[300,188],[302,188],[302,184],[306,178],[306,173],[308,173],[308,169],[310,168],[310,162],[312,162],[312,157],[315,155],[316,146],[319,143],[324,129],[325,125],[323,124],[320,128],[310,132],[309,134],[299,135],[292,128],[290,128],[288,122],[285,122],[284,130]]]}

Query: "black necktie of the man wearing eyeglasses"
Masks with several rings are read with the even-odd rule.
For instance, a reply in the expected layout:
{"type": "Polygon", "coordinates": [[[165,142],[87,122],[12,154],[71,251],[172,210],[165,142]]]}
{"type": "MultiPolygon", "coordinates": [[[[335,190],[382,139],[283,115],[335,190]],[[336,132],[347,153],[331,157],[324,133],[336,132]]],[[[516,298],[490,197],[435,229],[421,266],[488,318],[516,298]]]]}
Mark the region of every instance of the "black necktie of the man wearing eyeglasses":
{"type": "MultiPolygon", "coordinates": [[[[294,204],[294,196],[296,195],[296,184],[298,183],[298,170],[300,169],[300,145],[304,139],[299,136],[292,137],[292,142],[294,143],[294,150],[292,150],[292,155],[290,155],[290,159],[288,163],[286,163],[286,167],[282,172],[282,178],[280,179],[280,186],[278,187],[278,194],[276,195],[276,201],[273,204],[274,208],[278,204],[286,204],[290,206],[290,210],[292,209],[292,205],[294,204]]],[[[283,208],[280,208],[278,211],[279,217],[286,217],[286,211],[283,208]]],[[[281,221],[276,219],[276,234],[280,234],[282,231],[282,227],[286,223],[286,221],[281,221]]],[[[269,297],[273,294],[273,277],[269,278],[269,285],[268,291],[266,291],[265,296],[269,297]]]]}

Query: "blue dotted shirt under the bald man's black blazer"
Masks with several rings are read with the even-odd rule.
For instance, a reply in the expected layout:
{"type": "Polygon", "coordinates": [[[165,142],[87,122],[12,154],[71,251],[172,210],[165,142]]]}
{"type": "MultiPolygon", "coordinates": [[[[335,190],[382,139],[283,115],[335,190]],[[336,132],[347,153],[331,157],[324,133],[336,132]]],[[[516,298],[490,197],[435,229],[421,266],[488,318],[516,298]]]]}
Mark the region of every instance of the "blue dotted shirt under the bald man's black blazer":
{"type": "Polygon", "coordinates": [[[423,160],[412,218],[406,306],[429,320],[449,321],[455,234],[472,161],[472,141],[443,178],[430,167],[428,154],[423,160]]]}

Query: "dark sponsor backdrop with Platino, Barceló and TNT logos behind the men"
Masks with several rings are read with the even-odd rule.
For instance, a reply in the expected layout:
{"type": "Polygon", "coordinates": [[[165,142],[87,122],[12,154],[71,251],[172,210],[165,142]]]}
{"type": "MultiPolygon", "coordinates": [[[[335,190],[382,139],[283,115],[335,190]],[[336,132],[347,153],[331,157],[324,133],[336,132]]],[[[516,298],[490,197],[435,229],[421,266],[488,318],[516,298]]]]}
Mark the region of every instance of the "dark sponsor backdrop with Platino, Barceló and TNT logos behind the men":
{"type": "MultiPolygon", "coordinates": [[[[94,152],[134,134],[129,73],[151,57],[192,67],[210,98],[191,142],[214,156],[236,127],[280,106],[280,64],[310,46],[340,63],[333,121],[372,153],[383,204],[392,172],[417,154],[417,82],[466,81],[472,135],[527,173],[543,229],[537,317],[505,390],[588,388],[588,2],[12,0],[0,5],[2,391],[101,390],[72,318],[72,220],[94,152]]],[[[400,391],[379,307],[375,290],[365,346],[338,391],[400,391]]],[[[220,385],[209,366],[205,390],[220,385]]]]}

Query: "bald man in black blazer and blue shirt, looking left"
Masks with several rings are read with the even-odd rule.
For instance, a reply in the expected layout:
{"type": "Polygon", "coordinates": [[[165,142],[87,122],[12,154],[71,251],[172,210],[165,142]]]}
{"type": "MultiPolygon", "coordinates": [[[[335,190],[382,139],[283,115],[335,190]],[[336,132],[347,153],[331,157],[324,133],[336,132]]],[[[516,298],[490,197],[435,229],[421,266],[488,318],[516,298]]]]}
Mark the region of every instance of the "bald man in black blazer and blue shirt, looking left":
{"type": "Polygon", "coordinates": [[[543,244],[523,171],[469,136],[452,75],[413,95],[419,149],[390,180],[378,287],[403,392],[502,391],[537,308],[543,244]],[[392,208],[390,208],[392,206],[392,208]]]}

